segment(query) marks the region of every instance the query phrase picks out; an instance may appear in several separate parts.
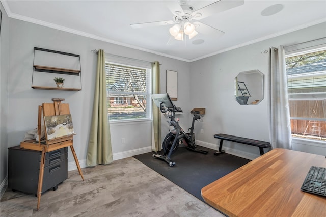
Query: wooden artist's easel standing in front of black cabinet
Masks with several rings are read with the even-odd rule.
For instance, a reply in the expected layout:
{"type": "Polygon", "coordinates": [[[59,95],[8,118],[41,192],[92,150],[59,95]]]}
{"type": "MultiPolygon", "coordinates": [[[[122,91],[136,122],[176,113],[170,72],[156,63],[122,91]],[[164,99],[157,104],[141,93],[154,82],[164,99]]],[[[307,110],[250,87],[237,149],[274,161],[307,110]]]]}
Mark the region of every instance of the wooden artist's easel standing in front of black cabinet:
{"type": "MultiPolygon", "coordinates": [[[[40,162],[40,173],[39,173],[39,182],[37,188],[37,210],[40,208],[41,194],[42,194],[42,184],[43,184],[43,175],[44,175],[44,164],[45,164],[45,154],[46,152],[55,151],[61,148],[70,147],[72,155],[75,159],[76,166],[78,168],[79,175],[82,177],[84,181],[83,172],[80,169],[80,165],[78,162],[78,158],[76,152],[73,148],[73,135],[60,137],[52,140],[47,139],[47,135],[45,133],[45,144],[41,144],[41,120],[43,116],[54,116],[54,115],[69,115],[69,104],[61,103],[65,99],[53,98],[53,103],[43,103],[42,106],[39,106],[38,113],[38,136],[39,142],[35,143],[35,140],[24,141],[20,143],[20,147],[24,149],[31,149],[36,151],[42,151],[41,162],[40,162]],[[43,116],[42,116],[43,113],[43,116]]],[[[43,118],[44,120],[44,118],[43,118]]],[[[45,125],[45,123],[44,123],[45,125]]]]}

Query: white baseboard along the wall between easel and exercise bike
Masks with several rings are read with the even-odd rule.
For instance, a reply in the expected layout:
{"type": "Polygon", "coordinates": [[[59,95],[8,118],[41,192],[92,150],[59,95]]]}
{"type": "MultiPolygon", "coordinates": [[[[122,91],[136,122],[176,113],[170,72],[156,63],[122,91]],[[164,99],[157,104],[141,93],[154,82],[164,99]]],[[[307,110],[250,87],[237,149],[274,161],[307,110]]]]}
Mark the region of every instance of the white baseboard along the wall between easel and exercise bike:
{"type": "MultiPolygon", "coordinates": [[[[123,158],[132,157],[133,155],[144,154],[144,153],[148,153],[151,151],[152,151],[152,147],[147,146],[144,148],[138,148],[138,149],[133,149],[133,150],[129,150],[129,151],[113,153],[113,160],[120,160],[123,158]]],[[[80,165],[80,168],[86,168],[87,167],[86,159],[79,160],[79,165],[80,165]]],[[[71,171],[71,170],[77,170],[75,161],[68,163],[68,171],[71,171]]]]}

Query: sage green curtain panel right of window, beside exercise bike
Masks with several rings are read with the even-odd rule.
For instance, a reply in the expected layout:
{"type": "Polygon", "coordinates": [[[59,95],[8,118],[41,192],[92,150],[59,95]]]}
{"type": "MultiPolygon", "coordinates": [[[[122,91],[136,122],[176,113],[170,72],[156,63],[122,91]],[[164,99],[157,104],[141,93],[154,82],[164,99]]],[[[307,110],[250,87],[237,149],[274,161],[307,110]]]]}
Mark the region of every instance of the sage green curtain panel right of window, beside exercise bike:
{"type": "MultiPolygon", "coordinates": [[[[160,93],[160,72],[159,62],[152,63],[152,94],[160,93]]],[[[153,103],[153,121],[152,121],[152,151],[161,150],[161,114],[158,107],[153,103]]]]}

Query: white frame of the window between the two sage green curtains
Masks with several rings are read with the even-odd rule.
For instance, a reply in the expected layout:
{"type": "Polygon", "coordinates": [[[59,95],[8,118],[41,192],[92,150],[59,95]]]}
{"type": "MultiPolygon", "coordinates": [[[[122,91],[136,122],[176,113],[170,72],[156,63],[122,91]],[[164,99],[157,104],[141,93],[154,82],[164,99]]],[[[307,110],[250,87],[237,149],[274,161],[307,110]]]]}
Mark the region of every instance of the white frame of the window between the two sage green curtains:
{"type": "MultiPolygon", "coordinates": [[[[147,82],[147,90],[146,93],[146,118],[135,118],[135,119],[123,119],[123,120],[110,120],[108,117],[108,120],[110,123],[119,123],[119,122],[137,122],[137,121],[151,121],[152,120],[152,66],[150,62],[132,59],[132,58],[126,58],[116,55],[111,55],[109,53],[105,53],[105,63],[110,64],[117,64],[127,67],[138,67],[138,68],[144,68],[149,71],[148,74],[148,82],[147,82]]],[[[128,93],[126,93],[128,94],[128,93]]],[[[143,93],[142,93],[143,94],[143,93]]],[[[108,93],[107,93],[108,95],[108,93]]]]}

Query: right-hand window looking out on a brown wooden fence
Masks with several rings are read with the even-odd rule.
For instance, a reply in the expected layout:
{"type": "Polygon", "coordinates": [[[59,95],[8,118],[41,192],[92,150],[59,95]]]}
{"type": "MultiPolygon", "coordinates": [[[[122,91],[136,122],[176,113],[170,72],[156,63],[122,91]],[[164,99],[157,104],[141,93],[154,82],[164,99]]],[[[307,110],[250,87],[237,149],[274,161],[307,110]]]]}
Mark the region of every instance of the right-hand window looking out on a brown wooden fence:
{"type": "Polygon", "coordinates": [[[326,141],[326,47],[286,56],[293,137],[326,141]]]}

